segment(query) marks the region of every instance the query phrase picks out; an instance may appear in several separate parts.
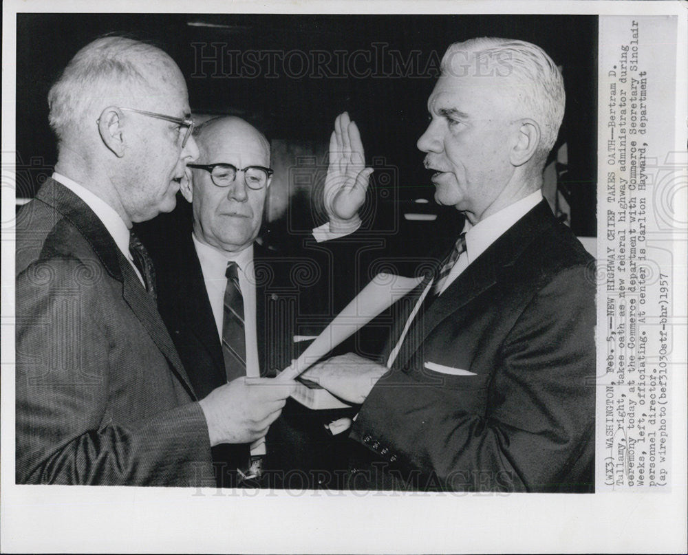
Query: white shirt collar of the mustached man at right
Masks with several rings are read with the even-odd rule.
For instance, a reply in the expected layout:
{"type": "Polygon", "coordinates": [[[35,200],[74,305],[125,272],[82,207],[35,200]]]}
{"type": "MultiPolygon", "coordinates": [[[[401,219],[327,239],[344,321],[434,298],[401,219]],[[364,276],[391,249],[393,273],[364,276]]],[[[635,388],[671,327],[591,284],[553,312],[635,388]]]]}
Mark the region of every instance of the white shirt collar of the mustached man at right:
{"type": "Polygon", "coordinates": [[[466,232],[466,256],[469,264],[480,257],[492,243],[535,208],[541,200],[542,192],[538,189],[527,197],[502,208],[499,212],[480,220],[475,226],[471,226],[466,219],[464,231],[466,232]]]}

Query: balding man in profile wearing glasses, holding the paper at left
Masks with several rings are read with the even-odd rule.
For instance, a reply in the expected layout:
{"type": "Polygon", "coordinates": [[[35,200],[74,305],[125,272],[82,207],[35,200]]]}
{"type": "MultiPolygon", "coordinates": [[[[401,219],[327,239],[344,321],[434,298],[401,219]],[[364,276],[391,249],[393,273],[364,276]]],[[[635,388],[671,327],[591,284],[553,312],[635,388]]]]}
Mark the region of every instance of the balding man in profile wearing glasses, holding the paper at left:
{"type": "Polygon", "coordinates": [[[156,309],[130,228],[174,208],[198,155],[184,78],[110,36],[49,102],[55,173],[17,219],[17,482],[214,486],[211,446],[265,435],[292,389],[237,380],[197,402],[156,309]]]}

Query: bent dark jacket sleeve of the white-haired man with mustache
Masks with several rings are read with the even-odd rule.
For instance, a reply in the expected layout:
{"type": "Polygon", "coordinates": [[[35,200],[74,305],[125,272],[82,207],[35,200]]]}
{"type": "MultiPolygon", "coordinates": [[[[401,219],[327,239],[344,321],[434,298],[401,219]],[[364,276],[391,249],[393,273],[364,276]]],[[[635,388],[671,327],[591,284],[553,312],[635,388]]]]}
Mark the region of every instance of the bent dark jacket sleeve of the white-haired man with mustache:
{"type": "Polygon", "coordinates": [[[352,439],[444,489],[559,490],[594,455],[594,295],[582,267],[537,291],[502,343],[484,413],[394,372],[372,389],[352,439]]]}

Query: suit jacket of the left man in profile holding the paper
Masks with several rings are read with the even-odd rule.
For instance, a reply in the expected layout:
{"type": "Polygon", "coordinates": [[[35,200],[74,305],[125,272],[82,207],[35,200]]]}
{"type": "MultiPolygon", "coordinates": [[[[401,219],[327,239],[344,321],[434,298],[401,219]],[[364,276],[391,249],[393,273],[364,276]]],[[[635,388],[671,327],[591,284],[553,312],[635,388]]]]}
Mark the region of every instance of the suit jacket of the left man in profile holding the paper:
{"type": "Polygon", "coordinates": [[[19,483],[212,486],[202,410],[152,298],[49,179],[17,219],[19,483]]]}

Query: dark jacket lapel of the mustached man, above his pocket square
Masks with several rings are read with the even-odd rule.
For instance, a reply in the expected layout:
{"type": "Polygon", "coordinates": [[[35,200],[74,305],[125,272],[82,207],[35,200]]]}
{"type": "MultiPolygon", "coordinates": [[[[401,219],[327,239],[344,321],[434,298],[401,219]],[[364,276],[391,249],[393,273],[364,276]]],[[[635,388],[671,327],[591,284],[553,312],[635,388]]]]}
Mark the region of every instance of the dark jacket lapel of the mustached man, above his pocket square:
{"type": "Polygon", "coordinates": [[[520,257],[528,243],[538,235],[546,233],[554,224],[555,219],[549,205],[543,199],[506,230],[447,287],[444,293],[422,311],[422,314],[416,316],[404,341],[409,345],[402,348],[394,367],[405,367],[418,347],[440,323],[493,287],[501,279],[505,269],[520,257]]]}

